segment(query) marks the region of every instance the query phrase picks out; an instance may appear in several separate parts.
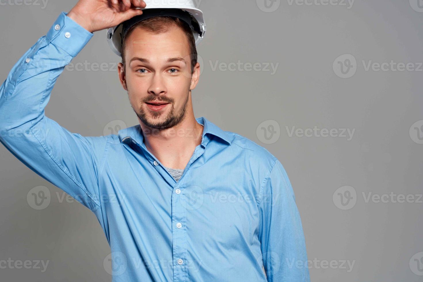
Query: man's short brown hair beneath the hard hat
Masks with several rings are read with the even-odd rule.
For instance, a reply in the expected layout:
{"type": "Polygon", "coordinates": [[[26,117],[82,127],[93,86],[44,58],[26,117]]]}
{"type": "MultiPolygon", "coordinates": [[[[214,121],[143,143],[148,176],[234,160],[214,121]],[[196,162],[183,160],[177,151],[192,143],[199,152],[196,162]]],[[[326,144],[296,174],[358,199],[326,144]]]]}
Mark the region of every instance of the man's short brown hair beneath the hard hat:
{"type": "Polygon", "coordinates": [[[142,27],[153,33],[163,33],[169,30],[170,27],[176,25],[180,27],[188,39],[189,49],[190,49],[190,59],[191,59],[191,74],[194,73],[194,66],[197,64],[197,48],[195,47],[195,39],[192,34],[191,27],[184,22],[183,20],[174,17],[174,16],[154,16],[152,18],[144,19],[140,22],[137,22],[135,25],[129,28],[126,32],[121,48],[122,55],[122,64],[125,68],[125,47],[126,47],[126,38],[135,30],[137,27],[142,27]]]}

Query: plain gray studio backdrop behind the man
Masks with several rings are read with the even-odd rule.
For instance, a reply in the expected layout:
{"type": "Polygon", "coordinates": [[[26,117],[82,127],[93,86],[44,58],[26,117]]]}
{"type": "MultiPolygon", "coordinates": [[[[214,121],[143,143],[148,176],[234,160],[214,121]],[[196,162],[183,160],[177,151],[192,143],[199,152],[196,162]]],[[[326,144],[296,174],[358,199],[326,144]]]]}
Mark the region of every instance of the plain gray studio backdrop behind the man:
{"type": "MultiPolygon", "coordinates": [[[[423,72],[366,71],[362,63],[423,62],[423,13],[412,8],[417,0],[356,0],[351,8],[347,2],[290,5],[281,0],[273,3],[279,5],[273,12],[260,9],[261,1],[203,0],[198,5],[207,31],[198,46],[203,70],[193,91],[195,117],[205,116],[257,142],[282,162],[302,217],[312,281],[422,281],[418,274],[423,273],[413,263],[423,251],[423,203],[366,203],[365,197],[369,192],[422,193],[423,145],[413,141],[418,140],[414,127],[414,135],[409,130],[416,121],[423,124],[423,72]],[[332,67],[343,54],[357,60],[350,78],[339,77],[332,67]],[[213,70],[217,62],[238,60],[259,63],[261,68],[265,63],[279,65],[273,75],[245,67],[213,70]],[[280,127],[274,128],[276,137],[270,144],[260,133],[261,123],[265,128],[269,123],[280,127]],[[351,140],[290,137],[286,126],[355,131],[351,140]],[[343,186],[356,191],[355,205],[346,210],[337,200],[337,189],[343,186]],[[326,267],[325,260],[338,266],[326,267]],[[340,267],[343,260],[354,262],[352,270],[347,264],[340,267]]],[[[77,1],[50,0],[45,8],[42,2],[1,3],[3,82],[59,13],[68,12],[77,1]]],[[[118,59],[107,46],[105,31],[94,33],[72,61],[87,60],[88,68],[63,72],[47,116],[85,136],[103,135],[110,122],[137,124],[118,81],[118,59]],[[93,71],[93,63],[107,63],[112,71],[93,71]]],[[[75,201],[60,203],[62,190],[3,146],[0,160],[0,260],[49,260],[44,273],[0,269],[0,280],[110,281],[103,268],[110,247],[94,214],[75,201]],[[48,187],[52,200],[38,211],[26,196],[40,185],[48,187]]]]}

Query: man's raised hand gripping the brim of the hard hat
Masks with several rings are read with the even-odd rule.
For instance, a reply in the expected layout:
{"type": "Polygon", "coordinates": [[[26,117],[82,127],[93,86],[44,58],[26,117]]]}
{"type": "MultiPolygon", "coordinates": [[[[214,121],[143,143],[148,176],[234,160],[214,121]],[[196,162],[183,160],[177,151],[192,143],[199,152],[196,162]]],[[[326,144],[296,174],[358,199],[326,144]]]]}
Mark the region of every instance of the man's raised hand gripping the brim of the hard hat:
{"type": "Polygon", "coordinates": [[[79,0],[67,16],[89,32],[103,30],[143,14],[143,0],[79,0]]]}

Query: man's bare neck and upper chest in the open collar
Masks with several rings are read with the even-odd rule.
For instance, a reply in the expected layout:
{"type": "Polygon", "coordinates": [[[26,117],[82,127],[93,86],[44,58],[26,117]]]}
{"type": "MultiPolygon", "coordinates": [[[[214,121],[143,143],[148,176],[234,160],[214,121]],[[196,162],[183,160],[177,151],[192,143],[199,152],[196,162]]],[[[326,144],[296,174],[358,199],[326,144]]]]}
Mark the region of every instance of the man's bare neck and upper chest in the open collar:
{"type": "Polygon", "coordinates": [[[202,141],[203,126],[194,115],[187,115],[181,123],[169,129],[152,129],[142,122],[140,125],[146,148],[165,167],[184,169],[202,141]]]}

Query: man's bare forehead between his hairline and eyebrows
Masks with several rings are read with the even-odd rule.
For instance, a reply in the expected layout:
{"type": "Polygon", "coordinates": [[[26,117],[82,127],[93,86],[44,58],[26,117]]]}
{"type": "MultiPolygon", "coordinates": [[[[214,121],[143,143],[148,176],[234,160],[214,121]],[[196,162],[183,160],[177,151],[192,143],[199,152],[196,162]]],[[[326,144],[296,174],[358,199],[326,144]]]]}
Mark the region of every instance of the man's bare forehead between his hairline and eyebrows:
{"type": "Polygon", "coordinates": [[[184,31],[176,25],[163,33],[135,27],[126,38],[124,54],[127,62],[132,57],[145,57],[151,62],[160,62],[168,57],[187,57],[190,55],[190,47],[184,31]]]}

